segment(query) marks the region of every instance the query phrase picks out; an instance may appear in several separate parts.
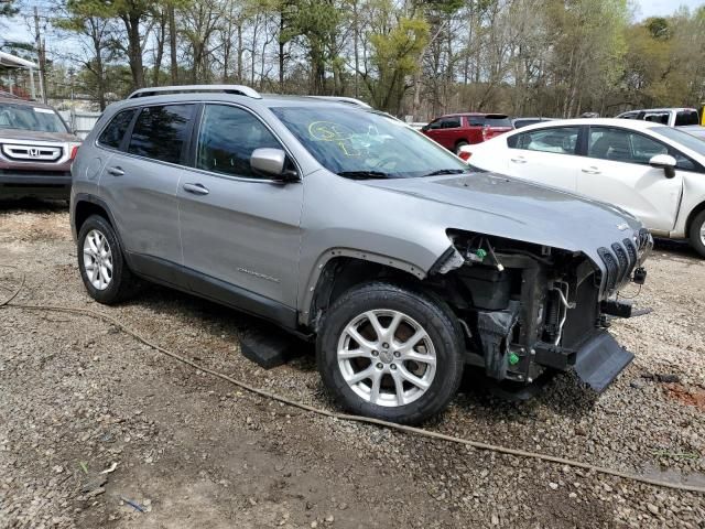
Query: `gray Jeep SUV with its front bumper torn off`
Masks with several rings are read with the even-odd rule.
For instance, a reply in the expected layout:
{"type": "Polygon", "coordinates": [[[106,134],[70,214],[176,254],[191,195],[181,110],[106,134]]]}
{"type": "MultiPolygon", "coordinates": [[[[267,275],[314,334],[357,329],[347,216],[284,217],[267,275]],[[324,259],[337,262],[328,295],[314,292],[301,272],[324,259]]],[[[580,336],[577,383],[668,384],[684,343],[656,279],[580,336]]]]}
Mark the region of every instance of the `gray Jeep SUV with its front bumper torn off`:
{"type": "Polygon", "coordinates": [[[261,316],[315,341],[345,408],[404,423],[468,367],[605,389],[632,359],[607,332],[631,312],[615,294],[652,246],[616,207],[475,170],[373,109],[232,85],[111,105],[70,219],[95,300],[145,279],[261,316]]]}

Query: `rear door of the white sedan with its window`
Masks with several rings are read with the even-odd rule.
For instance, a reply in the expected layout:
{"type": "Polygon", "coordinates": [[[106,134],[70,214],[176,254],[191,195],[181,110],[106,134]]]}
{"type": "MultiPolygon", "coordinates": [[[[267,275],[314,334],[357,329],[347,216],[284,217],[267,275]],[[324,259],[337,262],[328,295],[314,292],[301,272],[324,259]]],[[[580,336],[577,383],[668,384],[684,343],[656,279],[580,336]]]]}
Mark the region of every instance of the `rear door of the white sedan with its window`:
{"type": "Polygon", "coordinates": [[[550,127],[510,136],[507,174],[575,192],[582,161],[577,155],[579,131],[576,126],[550,127]]]}

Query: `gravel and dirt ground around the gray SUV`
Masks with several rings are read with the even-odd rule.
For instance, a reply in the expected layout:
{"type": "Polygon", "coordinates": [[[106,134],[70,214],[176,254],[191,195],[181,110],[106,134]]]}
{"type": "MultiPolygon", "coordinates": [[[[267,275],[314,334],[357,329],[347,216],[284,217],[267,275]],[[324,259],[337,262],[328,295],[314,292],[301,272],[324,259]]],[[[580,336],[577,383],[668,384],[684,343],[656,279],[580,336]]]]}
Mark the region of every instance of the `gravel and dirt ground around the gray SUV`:
{"type": "MultiPolygon", "coordinates": [[[[335,408],[308,347],[268,371],[243,358],[253,321],[235,311],[156,287],[117,307],[90,301],[61,205],[0,204],[0,264],[26,274],[18,303],[98,310],[204,366],[335,408]]],[[[653,313],[615,323],[637,358],[604,395],[561,376],[511,403],[467,382],[426,428],[705,485],[705,261],[663,244],[648,268],[637,300],[653,313]]],[[[0,269],[0,299],[18,279],[0,269]]],[[[312,415],[106,323],[0,310],[0,528],[196,526],[695,529],[705,496],[312,415]]]]}

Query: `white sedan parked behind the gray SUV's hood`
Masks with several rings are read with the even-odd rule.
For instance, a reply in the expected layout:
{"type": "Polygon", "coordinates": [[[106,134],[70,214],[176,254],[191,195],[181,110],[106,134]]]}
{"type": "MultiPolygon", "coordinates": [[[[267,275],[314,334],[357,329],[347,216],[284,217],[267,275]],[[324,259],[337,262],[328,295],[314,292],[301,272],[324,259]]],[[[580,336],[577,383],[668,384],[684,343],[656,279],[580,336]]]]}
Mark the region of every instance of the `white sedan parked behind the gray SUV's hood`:
{"type": "MultiPolygon", "coordinates": [[[[649,121],[566,119],[463,148],[479,169],[614,204],[705,257],[705,142],[649,121]]],[[[560,219],[556,219],[560,222],[560,219]]]]}

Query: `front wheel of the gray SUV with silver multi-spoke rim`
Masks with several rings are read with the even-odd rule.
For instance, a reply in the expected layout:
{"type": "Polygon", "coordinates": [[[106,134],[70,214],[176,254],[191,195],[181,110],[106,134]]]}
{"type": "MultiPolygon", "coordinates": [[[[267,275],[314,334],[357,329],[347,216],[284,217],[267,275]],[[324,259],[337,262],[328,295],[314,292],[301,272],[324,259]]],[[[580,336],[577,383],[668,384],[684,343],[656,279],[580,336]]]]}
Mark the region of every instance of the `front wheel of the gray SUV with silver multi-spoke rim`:
{"type": "Polygon", "coordinates": [[[327,312],[316,343],[318,370],[350,412],[417,424],[457,392],[462,337],[443,301],[369,283],[343,294],[327,312]]]}

